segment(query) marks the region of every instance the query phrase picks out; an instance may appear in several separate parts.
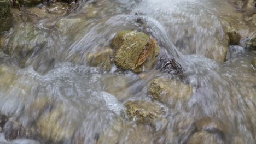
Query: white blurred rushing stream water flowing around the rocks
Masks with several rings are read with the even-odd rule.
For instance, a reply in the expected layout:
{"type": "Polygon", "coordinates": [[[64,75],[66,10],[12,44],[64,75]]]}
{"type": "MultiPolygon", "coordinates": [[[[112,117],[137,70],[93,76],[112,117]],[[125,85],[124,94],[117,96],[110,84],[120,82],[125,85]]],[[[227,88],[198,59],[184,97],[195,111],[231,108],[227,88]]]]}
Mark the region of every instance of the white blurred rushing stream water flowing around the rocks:
{"type": "MultiPolygon", "coordinates": [[[[67,16],[40,19],[28,16],[25,22],[14,25],[7,34],[9,39],[16,38],[17,43],[33,46],[23,37],[36,31],[43,35],[35,36],[36,40],[44,43],[36,45],[38,50],[26,59],[25,68],[17,66],[19,58],[0,55],[1,113],[37,131],[35,125],[42,113],[59,107],[61,114],[56,117],[61,128],[57,132],[46,132],[71,135],[59,143],[96,143],[104,131],[119,123],[126,126],[120,127],[121,132],[113,136],[118,143],[140,143],[136,141],[139,137],[144,143],[185,143],[192,133],[190,122],[204,116],[218,118],[225,124],[224,143],[256,143],[256,73],[251,71],[254,54],[243,47],[230,46],[233,51],[224,63],[205,57],[210,45],[219,45],[222,41],[218,38],[225,37],[220,18],[231,15],[242,19],[230,3],[221,0],[97,1],[93,4],[98,9],[98,17],[88,19],[69,35],[58,31],[55,23],[60,17],[84,19],[83,11],[90,2],[81,1],[67,16]],[[135,13],[143,24],[136,22],[135,13]],[[109,47],[115,33],[123,29],[152,34],[160,44],[161,55],[174,56],[185,70],[185,81],[193,86],[193,95],[188,101],[178,101],[175,106],[159,104],[166,111],[167,123],[156,121],[152,127],[133,122],[125,115],[124,103],[131,99],[150,101],[147,93],[150,80],[168,74],[149,71],[146,78],[140,79],[139,74],[116,67],[104,71],[86,64],[89,52],[109,47]],[[106,89],[118,93],[119,97],[106,89]],[[47,99],[43,111],[37,108],[41,102],[36,103],[42,99],[47,99]],[[189,124],[171,139],[168,131],[179,122],[189,124]],[[131,133],[137,138],[133,139],[131,133]]],[[[51,127],[50,118],[48,122],[51,127]]],[[[37,135],[29,138],[44,143],[37,135]]],[[[105,139],[102,143],[108,143],[105,139]]],[[[57,143],[57,140],[51,142],[57,143]]]]}

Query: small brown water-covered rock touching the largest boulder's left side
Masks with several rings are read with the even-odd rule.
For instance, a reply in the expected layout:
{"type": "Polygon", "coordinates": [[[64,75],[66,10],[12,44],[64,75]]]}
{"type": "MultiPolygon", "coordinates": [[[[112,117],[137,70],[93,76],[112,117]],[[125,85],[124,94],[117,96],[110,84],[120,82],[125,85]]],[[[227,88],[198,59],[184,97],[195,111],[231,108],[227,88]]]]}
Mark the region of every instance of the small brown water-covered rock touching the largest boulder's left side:
{"type": "Polygon", "coordinates": [[[92,67],[101,67],[104,70],[110,70],[113,50],[107,48],[103,52],[89,53],[87,56],[88,64],[92,67]]]}

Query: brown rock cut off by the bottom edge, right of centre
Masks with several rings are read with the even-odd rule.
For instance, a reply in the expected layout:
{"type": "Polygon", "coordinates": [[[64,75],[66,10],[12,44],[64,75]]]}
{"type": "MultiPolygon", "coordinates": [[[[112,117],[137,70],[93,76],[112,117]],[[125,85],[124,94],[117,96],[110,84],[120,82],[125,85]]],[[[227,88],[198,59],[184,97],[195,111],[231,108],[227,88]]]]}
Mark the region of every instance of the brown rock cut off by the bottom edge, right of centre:
{"type": "Polygon", "coordinates": [[[187,144],[224,144],[224,142],[218,139],[214,134],[200,131],[191,135],[187,144]]]}

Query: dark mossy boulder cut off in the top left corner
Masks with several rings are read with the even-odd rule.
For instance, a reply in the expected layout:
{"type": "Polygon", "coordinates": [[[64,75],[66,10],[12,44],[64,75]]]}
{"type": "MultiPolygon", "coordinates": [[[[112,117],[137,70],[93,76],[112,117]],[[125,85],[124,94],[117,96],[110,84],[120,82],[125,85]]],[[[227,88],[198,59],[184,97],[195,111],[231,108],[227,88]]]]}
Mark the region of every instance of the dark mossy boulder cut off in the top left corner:
{"type": "Polygon", "coordinates": [[[11,27],[10,1],[0,0],[0,32],[11,27]]]}

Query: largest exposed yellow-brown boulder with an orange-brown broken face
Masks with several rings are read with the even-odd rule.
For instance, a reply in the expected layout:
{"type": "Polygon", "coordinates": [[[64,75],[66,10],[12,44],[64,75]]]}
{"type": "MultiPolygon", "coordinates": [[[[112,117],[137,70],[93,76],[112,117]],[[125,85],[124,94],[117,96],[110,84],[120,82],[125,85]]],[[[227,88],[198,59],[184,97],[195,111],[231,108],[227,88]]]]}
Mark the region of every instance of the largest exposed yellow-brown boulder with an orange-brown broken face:
{"type": "Polygon", "coordinates": [[[137,31],[118,32],[112,41],[112,46],[115,64],[135,73],[151,69],[159,53],[156,40],[137,31]]]}

